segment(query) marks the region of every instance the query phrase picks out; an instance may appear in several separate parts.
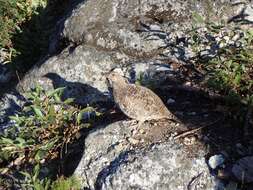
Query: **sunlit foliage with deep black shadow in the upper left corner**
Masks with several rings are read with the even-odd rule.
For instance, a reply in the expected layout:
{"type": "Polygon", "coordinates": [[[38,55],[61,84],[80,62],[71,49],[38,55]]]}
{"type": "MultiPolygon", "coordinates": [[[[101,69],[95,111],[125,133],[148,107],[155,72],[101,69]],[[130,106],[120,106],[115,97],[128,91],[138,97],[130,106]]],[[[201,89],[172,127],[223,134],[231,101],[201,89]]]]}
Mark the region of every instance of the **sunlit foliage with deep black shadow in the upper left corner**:
{"type": "Polygon", "coordinates": [[[0,60],[20,77],[47,55],[69,0],[0,0],[0,60]],[[59,6],[61,4],[61,6],[59,6]]]}

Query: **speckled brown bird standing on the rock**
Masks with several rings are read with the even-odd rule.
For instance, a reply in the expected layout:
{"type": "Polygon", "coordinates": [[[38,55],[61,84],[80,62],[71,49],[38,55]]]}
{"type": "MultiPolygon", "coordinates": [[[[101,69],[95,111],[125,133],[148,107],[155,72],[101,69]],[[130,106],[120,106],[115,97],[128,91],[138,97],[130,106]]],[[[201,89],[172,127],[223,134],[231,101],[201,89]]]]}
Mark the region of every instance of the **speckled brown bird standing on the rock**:
{"type": "Polygon", "coordinates": [[[127,117],[138,121],[139,125],[150,120],[173,120],[173,114],[149,88],[129,83],[116,70],[111,71],[106,78],[116,105],[127,117]]]}

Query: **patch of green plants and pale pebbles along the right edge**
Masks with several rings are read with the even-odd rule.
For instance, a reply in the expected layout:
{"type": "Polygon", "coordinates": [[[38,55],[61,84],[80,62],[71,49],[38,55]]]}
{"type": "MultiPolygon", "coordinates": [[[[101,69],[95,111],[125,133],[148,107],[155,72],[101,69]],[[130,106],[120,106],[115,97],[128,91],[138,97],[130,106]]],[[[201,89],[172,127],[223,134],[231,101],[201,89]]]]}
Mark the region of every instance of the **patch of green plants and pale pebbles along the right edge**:
{"type": "MultiPolygon", "coordinates": [[[[203,74],[201,85],[237,106],[234,118],[251,114],[253,104],[253,30],[243,23],[206,22],[193,14],[190,32],[193,65],[203,74]],[[204,54],[203,52],[208,52],[204,54]]],[[[247,120],[247,119],[246,119],[247,120]]],[[[249,122],[249,121],[246,121],[249,122]]]]}

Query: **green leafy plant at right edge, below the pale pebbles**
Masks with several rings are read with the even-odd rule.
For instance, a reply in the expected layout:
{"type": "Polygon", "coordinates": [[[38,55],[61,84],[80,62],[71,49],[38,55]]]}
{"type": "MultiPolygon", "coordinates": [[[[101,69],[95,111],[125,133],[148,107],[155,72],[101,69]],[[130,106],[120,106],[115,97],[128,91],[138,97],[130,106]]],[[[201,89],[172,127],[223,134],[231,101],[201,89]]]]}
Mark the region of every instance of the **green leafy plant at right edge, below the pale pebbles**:
{"type": "Polygon", "coordinates": [[[253,99],[253,31],[245,32],[240,48],[223,48],[207,64],[207,84],[214,90],[248,104],[253,99]]]}

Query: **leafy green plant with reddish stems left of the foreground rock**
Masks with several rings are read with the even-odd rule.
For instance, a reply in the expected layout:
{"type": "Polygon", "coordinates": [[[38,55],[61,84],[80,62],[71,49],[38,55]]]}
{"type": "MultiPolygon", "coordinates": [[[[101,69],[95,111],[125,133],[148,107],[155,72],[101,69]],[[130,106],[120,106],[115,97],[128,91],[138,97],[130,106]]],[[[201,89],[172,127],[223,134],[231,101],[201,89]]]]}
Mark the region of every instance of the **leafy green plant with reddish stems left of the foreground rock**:
{"type": "Polygon", "coordinates": [[[68,187],[74,182],[72,178],[61,178],[53,183],[51,177],[59,174],[47,171],[46,176],[50,174],[50,177],[43,179],[42,171],[49,170],[47,166],[54,160],[64,159],[69,145],[80,138],[80,130],[91,126],[92,118],[84,122],[84,114],[99,113],[92,107],[72,106],[73,99],[61,100],[63,91],[64,88],[58,88],[46,92],[36,87],[27,94],[28,103],[22,111],[10,117],[14,125],[0,134],[0,175],[22,174],[25,189],[28,186],[38,190],[50,189],[51,185],[61,187],[60,181],[68,187]]]}

